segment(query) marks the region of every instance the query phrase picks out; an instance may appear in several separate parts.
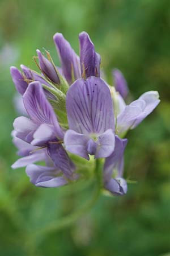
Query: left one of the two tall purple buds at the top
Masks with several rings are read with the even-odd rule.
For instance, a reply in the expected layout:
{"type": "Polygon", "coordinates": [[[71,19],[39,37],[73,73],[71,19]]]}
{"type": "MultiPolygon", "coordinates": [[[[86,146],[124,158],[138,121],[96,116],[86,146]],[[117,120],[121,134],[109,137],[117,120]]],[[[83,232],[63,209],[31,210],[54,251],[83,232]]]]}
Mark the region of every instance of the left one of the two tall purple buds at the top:
{"type": "Polygon", "coordinates": [[[54,35],[54,43],[61,60],[63,74],[69,84],[72,84],[74,80],[81,77],[79,57],[61,33],[54,35]]]}

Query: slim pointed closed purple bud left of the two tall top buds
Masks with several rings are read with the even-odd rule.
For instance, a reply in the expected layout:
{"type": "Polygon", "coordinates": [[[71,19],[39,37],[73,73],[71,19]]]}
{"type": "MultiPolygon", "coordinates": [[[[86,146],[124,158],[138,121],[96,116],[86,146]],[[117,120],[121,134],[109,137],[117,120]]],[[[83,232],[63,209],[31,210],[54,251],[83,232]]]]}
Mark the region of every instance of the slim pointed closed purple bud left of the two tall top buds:
{"type": "Polygon", "coordinates": [[[48,59],[46,59],[44,55],[42,55],[39,49],[37,49],[37,55],[39,56],[39,64],[42,73],[49,77],[51,81],[55,82],[56,84],[59,84],[59,77],[57,75],[55,68],[53,67],[53,64],[48,59]]]}

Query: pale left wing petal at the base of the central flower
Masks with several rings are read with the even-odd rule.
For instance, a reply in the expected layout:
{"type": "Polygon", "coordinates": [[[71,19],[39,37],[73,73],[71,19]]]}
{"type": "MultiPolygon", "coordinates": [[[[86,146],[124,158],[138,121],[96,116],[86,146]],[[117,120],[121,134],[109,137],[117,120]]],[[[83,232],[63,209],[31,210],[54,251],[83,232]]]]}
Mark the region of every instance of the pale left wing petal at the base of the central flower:
{"type": "Polygon", "coordinates": [[[66,150],[89,160],[87,150],[89,139],[86,135],[76,133],[73,130],[67,130],[64,137],[66,150]]]}

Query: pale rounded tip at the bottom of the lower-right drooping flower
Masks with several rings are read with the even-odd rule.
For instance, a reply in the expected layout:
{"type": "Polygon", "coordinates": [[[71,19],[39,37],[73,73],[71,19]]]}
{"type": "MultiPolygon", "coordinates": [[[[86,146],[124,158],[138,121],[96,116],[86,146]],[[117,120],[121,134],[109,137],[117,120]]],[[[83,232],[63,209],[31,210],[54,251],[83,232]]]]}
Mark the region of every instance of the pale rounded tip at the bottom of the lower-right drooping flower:
{"type": "Polygon", "coordinates": [[[109,180],[109,182],[105,184],[105,188],[113,195],[117,196],[123,196],[128,191],[126,180],[122,178],[109,180]]]}

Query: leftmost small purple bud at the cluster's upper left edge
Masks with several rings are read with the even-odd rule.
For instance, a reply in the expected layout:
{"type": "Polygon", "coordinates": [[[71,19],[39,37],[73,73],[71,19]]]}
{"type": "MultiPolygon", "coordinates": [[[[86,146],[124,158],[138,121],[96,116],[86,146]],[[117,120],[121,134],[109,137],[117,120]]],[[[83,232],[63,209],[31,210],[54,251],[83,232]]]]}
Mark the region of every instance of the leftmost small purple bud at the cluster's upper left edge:
{"type": "Polygon", "coordinates": [[[11,67],[10,72],[11,72],[12,81],[15,84],[16,90],[18,90],[18,92],[23,95],[25,90],[28,87],[28,84],[27,82],[24,81],[24,77],[22,73],[15,67],[11,67]]]}

